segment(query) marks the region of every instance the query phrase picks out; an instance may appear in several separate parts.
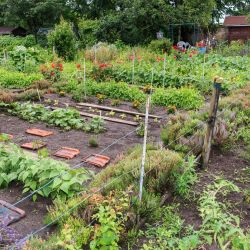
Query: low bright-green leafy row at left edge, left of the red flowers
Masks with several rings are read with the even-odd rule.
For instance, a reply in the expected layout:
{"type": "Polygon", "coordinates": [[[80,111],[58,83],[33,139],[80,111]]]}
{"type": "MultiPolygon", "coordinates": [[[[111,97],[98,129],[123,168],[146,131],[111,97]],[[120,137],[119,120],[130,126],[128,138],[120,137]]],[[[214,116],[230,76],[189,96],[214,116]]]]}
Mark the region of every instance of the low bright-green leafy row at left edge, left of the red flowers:
{"type": "Polygon", "coordinates": [[[4,88],[23,88],[31,85],[34,81],[42,79],[42,76],[37,73],[11,72],[3,68],[0,68],[0,75],[0,86],[4,88]]]}

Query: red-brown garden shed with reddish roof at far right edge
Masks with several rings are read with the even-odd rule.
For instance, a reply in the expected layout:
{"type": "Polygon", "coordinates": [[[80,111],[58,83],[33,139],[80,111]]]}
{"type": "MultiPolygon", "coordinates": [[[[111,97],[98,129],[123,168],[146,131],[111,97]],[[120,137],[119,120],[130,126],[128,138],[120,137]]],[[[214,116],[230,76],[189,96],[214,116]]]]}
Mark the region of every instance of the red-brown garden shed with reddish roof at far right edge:
{"type": "Polygon", "coordinates": [[[226,39],[247,41],[250,39],[250,22],[247,16],[227,16],[224,20],[226,39]]]}

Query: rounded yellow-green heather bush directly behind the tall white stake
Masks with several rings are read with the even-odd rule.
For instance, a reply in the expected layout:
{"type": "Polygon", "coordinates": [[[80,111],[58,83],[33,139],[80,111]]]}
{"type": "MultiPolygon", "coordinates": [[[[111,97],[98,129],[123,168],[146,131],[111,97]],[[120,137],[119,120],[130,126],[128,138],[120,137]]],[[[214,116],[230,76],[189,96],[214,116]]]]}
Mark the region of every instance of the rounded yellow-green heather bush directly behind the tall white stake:
{"type": "MultiPolygon", "coordinates": [[[[133,149],[125,159],[108,166],[101,173],[96,175],[91,186],[99,187],[103,183],[111,182],[106,189],[109,190],[126,190],[135,180],[139,179],[141,166],[141,147],[133,149]],[[124,174],[127,173],[127,174],[124,174]],[[123,178],[115,180],[118,176],[124,175],[123,178]],[[114,182],[112,183],[112,181],[114,182]]],[[[181,156],[170,150],[157,150],[148,147],[148,161],[145,165],[145,172],[149,171],[145,178],[145,189],[151,192],[164,192],[167,184],[170,182],[170,173],[180,166],[183,162],[181,156]]]]}

